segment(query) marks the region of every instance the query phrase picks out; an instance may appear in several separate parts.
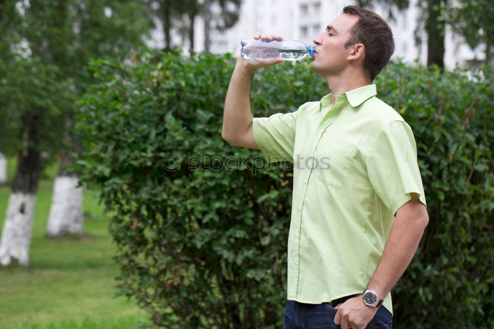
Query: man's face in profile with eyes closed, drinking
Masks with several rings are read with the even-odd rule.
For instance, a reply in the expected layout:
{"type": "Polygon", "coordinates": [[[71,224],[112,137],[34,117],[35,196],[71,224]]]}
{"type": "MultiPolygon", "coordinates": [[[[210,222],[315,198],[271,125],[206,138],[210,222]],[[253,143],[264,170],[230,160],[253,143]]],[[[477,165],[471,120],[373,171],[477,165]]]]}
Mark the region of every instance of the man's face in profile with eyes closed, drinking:
{"type": "Polygon", "coordinates": [[[359,16],[342,14],[329,23],[326,31],[314,39],[316,53],[312,55],[312,70],[322,76],[337,75],[348,64],[348,55],[351,47],[345,49],[345,42],[350,38],[352,26],[359,20],[359,16]]]}

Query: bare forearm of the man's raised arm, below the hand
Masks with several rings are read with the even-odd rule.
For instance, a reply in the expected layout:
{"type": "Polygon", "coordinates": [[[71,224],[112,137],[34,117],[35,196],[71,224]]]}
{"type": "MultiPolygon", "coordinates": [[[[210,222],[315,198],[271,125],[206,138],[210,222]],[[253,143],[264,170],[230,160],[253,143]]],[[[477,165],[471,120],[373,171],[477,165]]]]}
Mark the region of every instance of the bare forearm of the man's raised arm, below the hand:
{"type": "Polygon", "coordinates": [[[252,124],[250,109],[250,88],[254,71],[247,69],[239,59],[235,65],[223,112],[223,131],[221,136],[227,141],[234,141],[244,134],[252,124]]]}

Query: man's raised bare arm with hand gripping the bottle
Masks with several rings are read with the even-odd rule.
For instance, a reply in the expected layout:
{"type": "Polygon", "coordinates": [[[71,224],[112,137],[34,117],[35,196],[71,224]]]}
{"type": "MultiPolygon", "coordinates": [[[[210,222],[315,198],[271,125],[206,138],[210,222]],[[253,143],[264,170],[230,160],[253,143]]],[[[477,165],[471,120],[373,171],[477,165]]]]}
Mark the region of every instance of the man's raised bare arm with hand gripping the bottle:
{"type": "MultiPolygon", "coordinates": [[[[283,38],[256,33],[254,39],[281,41],[283,38]]],[[[223,111],[224,140],[239,147],[259,149],[252,133],[252,111],[250,109],[250,88],[255,70],[284,62],[283,58],[243,59],[237,60],[232,79],[228,87],[223,111]]]]}

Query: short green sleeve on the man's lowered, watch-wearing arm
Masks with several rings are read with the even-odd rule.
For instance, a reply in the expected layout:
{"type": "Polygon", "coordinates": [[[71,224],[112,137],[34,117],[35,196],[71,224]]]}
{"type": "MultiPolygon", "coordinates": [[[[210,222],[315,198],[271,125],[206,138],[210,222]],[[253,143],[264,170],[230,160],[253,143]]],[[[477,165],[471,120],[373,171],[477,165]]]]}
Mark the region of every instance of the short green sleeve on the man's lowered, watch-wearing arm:
{"type": "Polygon", "coordinates": [[[375,193],[394,215],[412,199],[411,193],[426,206],[415,139],[407,123],[383,126],[367,161],[367,172],[375,193]]]}

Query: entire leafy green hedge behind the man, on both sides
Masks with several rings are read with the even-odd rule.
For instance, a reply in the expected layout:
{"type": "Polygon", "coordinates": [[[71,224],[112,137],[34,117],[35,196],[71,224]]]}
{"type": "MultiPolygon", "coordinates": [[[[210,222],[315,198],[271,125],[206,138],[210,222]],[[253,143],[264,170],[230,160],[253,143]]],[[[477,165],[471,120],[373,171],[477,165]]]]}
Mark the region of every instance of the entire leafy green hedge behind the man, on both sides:
{"type": "MultiPolygon", "coordinates": [[[[309,64],[260,70],[254,116],[328,93],[309,64]]],[[[101,83],[81,101],[82,180],[115,213],[119,294],[157,326],[282,324],[292,171],[222,140],[234,65],[231,55],[146,51],[91,65],[101,83]]],[[[377,80],[381,99],[414,130],[430,214],[394,291],[397,328],[493,324],[494,75],[480,74],[394,64],[377,80]]]]}

